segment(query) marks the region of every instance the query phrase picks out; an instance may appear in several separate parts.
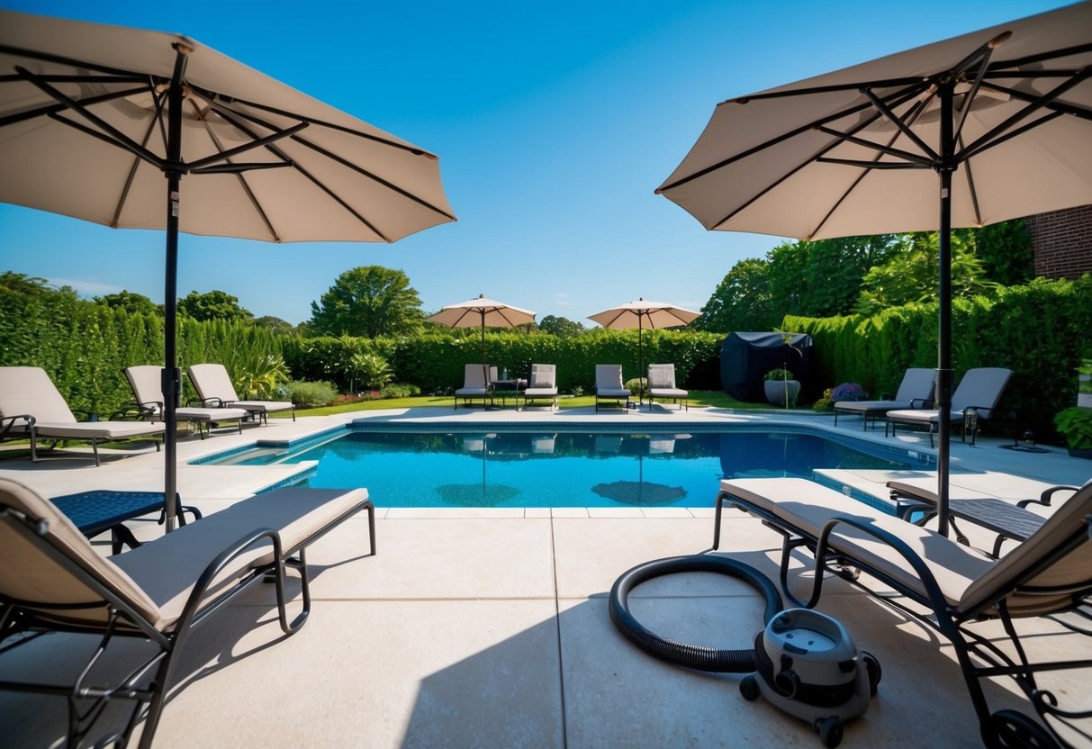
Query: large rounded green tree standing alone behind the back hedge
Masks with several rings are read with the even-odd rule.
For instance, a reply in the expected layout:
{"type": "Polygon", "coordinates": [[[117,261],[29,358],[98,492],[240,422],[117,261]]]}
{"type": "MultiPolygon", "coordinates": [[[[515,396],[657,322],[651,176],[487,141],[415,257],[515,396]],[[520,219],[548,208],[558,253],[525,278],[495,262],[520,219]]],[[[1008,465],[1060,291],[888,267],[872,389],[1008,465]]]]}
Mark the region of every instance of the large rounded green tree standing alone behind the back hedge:
{"type": "Polygon", "coordinates": [[[320,335],[403,335],[420,330],[420,297],[402,271],[364,265],[345,271],[319,301],[310,328],[320,335]]]}

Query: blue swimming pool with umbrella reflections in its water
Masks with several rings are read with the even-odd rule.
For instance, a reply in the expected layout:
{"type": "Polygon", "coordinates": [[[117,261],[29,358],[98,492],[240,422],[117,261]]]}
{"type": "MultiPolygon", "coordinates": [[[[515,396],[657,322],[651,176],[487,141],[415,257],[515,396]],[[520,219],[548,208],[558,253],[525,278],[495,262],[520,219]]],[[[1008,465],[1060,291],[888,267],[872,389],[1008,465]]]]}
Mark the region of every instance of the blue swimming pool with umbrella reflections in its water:
{"type": "MultiPolygon", "coordinates": [[[[644,429],[644,427],[641,427],[644,429]]],[[[808,430],[626,432],[339,429],[200,462],[318,461],[314,487],[366,486],[377,507],[711,507],[721,478],[926,467],[924,456],[808,430]]]]}

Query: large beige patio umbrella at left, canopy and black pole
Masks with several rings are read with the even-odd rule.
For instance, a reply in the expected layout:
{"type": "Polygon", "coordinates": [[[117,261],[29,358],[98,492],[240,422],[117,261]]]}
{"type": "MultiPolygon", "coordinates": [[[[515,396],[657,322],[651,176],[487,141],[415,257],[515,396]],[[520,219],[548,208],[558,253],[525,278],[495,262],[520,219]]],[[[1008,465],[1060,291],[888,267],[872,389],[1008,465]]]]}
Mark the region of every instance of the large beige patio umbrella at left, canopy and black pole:
{"type": "Polygon", "coordinates": [[[392,242],[454,221],[435,155],[192,39],[4,10],[0,164],[0,201],[166,229],[167,498],[179,231],[392,242]]]}

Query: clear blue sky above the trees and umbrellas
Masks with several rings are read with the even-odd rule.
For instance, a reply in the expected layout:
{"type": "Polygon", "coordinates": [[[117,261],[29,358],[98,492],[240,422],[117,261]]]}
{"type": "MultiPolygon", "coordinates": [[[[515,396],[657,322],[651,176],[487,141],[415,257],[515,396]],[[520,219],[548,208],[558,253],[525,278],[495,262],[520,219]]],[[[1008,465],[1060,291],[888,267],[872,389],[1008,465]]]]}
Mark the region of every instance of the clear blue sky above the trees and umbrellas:
{"type": "MultiPolygon", "coordinates": [[[[458,223],[394,245],[182,235],[179,296],[221,289],[298,323],[339,274],[379,264],[427,312],[485,294],[592,325],[639,296],[700,309],[736,261],[779,243],[708,233],[653,194],[719,102],[1067,3],[0,4],[185,34],[439,154],[458,223]]],[[[162,302],[163,255],[159,231],[0,204],[0,270],[162,302]]]]}

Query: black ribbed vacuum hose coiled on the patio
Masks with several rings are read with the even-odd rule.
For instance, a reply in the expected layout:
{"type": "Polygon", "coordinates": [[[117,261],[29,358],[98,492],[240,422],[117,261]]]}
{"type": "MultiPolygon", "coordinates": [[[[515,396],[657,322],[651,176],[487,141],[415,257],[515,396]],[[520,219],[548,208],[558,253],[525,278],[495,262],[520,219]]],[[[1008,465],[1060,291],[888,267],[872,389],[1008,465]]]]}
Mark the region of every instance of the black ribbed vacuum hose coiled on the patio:
{"type": "Polygon", "coordinates": [[[679,666],[721,674],[744,674],[756,670],[753,650],[715,650],[668,640],[650,632],[629,613],[631,590],[653,578],[678,572],[716,572],[749,583],[765,598],[763,625],[778,616],[783,608],[778,587],[769,578],[749,564],[726,557],[707,555],[668,557],[638,564],[615,581],[610,587],[609,608],[610,620],[618,631],[649,655],[679,666]]]}

